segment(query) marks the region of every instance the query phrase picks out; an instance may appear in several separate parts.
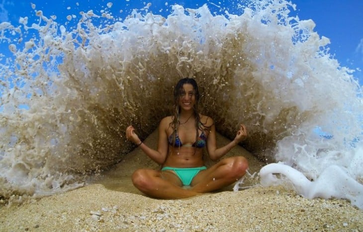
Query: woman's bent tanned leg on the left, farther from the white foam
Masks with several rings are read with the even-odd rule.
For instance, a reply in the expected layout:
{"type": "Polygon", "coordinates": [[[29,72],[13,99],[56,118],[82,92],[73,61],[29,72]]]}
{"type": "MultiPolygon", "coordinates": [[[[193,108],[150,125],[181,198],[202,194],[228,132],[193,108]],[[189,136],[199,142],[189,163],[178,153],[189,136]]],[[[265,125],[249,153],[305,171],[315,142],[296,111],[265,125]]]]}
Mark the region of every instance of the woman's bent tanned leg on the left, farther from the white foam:
{"type": "Polygon", "coordinates": [[[181,180],[171,171],[138,169],[132,174],[132,183],[148,196],[161,199],[177,199],[200,193],[182,188],[181,180]]]}

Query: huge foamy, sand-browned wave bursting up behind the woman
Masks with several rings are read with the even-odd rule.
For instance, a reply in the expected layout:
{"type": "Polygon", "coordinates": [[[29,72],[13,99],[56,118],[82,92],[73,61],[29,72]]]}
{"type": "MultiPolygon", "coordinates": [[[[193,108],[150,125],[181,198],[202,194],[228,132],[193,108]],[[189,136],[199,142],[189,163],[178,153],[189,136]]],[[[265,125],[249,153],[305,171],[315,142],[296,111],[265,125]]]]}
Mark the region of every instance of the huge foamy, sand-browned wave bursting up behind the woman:
{"type": "Polygon", "coordinates": [[[263,185],[287,181],[305,197],[362,209],[363,100],[352,71],[293,4],[228,4],[151,12],[107,3],[66,22],[32,4],[33,17],[1,23],[10,51],[0,67],[1,198],[82,186],[134,148],[128,125],[146,138],[171,113],[178,79],[194,77],[218,132],[233,138],[245,123],[243,146],[272,163],[263,185]]]}

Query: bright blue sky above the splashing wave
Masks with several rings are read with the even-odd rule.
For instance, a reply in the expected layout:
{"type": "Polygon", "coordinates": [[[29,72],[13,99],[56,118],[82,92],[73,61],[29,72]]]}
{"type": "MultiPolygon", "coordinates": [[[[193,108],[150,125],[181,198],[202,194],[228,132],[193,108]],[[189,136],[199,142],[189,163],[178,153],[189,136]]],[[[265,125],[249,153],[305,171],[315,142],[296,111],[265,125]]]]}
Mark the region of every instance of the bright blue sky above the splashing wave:
{"type": "MultiPolygon", "coordinates": [[[[36,9],[43,10],[44,15],[56,15],[58,22],[66,22],[67,15],[76,14],[89,9],[106,7],[113,2],[113,9],[141,8],[143,2],[151,2],[154,13],[168,14],[170,5],[178,3],[185,7],[201,6],[209,3],[226,6],[229,0],[0,0],[0,22],[9,21],[17,25],[19,17],[33,15],[31,3],[36,9]]],[[[330,39],[330,51],[335,55],[341,66],[351,69],[360,69],[355,77],[363,85],[363,0],[291,0],[297,5],[297,14],[300,19],[313,19],[316,23],[315,31],[320,36],[330,39]]],[[[218,7],[216,7],[218,9],[218,7]]],[[[213,12],[213,9],[211,9],[213,12]]],[[[123,14],[127,13],[124,11],[123,14]]],[[[29,20],[30,21],[30,20],[29,20]]],[[[1,48],[1,46],[0,46],[1,48]]]]}

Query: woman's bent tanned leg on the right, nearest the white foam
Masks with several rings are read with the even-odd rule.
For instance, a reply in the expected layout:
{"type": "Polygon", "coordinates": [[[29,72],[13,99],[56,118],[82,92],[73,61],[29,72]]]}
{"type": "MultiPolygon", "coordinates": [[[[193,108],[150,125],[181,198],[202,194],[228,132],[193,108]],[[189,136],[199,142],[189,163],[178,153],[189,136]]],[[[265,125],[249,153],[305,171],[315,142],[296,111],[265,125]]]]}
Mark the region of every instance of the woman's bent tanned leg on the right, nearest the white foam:
{"type": "Polygon", "coordinates": [[[206,193],[228,186],[246,174],[248,161],[243,156],[222,159],[200,171],[191,181],[191,191],[206,193]]]}

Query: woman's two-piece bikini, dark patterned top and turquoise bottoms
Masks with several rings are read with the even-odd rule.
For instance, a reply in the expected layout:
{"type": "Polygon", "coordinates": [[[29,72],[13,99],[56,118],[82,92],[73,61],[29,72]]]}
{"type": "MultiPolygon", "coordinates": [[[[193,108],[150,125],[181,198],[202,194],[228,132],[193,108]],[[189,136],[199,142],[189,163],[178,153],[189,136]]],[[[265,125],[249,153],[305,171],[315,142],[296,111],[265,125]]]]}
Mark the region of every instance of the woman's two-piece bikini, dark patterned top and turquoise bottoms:
{"type": "MultiPolygon", "coordinates": [[[[173,134],[168,138],[169,144],[173,146],[173,134]]],[[[203,148],[205,147],[207,142],[207,137],[204,132],[202,132],[197,141],[195,141],[192,145],[182,145],[181,140],[179,138],[178,132],[175,135],[175,143],[174,147],[194,147],[194,148],[203,148]]],[[[201,167],[163,167],[161,170],[172,170],[177,176],[181,179],[183,185],[190,185],[193,178],[196,174],[201,170],[207,169],[206,166],[201,167]]]]}

